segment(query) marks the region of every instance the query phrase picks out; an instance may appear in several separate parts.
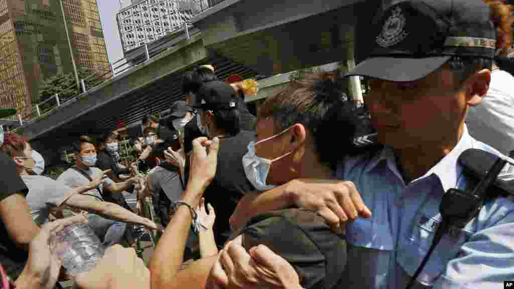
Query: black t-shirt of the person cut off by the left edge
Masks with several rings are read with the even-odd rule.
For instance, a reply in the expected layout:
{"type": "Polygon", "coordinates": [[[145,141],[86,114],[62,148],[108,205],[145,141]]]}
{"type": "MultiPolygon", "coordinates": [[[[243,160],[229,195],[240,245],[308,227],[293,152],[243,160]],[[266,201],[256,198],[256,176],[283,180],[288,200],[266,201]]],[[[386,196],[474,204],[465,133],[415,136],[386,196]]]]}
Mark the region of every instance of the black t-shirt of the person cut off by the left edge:
{"type": "MultiPolygon", "coordinates": [[[[0,153],[0,202],[13,194],[22,193],[26,196],[29,189],[23,182],[22,178],[16,172],[16,165],[4,153],[0,153]]],[[[29,213],[29,212],[21,212],[29,213]]],[[[6,270],[6,274],[11,278],[17,278],[23,271],[27,262],[28,252],[16,247],[14,242],[9,239],[7,228],[3,220],[0,220],[0,263],[6,270]]]]}

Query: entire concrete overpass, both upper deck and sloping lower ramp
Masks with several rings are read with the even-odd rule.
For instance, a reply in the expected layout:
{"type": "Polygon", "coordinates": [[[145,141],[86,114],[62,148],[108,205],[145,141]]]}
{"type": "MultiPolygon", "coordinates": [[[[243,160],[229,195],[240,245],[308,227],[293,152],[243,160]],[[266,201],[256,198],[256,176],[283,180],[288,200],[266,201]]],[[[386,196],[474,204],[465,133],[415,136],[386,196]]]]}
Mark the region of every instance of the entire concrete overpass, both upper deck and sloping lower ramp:
{"type": "MultiPolygon", "coordinates": [[[[244,78],[283,74],[338,61],[351,68],[367,52],[362,36],[370,33],[383,1],[225,0],[193,19],[200,33],[189,39],[182,35],[159,56],[17,132],[27,136],[36,150],[58,157],[55,148],[81,134],[112,130],[118,121],[130,124],[167,109],[183,98],[180,77],[194,65],[211,63],[222,79],[232,73],[244,78]]],[[[270,85],[266,92],[283,85],[270,85]]]]}

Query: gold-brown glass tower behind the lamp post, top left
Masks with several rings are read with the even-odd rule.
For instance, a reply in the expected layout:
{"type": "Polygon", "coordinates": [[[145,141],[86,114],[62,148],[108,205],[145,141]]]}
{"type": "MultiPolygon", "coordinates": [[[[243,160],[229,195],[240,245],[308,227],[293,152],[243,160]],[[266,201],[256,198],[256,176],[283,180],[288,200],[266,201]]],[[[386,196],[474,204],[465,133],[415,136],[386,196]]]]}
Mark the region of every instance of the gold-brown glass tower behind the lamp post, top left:
{"type": "Polygon", "coordinates": [[[0,107],[33,114],[42,81],[74,72],[71,55],[77,69],[110,77],[97,0],[0,0],[0,107]]]}

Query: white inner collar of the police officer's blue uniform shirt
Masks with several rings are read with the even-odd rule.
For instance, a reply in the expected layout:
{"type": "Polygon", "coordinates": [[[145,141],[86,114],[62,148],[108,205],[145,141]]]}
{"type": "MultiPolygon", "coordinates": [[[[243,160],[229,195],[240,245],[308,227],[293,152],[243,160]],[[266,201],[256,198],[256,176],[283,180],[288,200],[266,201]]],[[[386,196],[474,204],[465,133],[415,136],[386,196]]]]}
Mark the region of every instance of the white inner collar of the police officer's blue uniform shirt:
{"type": "MultiPolygon", "coordinates": [[[[457,145],[453,150],[441,159],[434,167],[432,167],[423,176],[413,180],[414,183],[420,179],[424,179],[432,174],[436,175],[444,191],[446,192],[450,188],[457,187],[457,183],[460,181],[462,175],[462,166],[458,164],[458,157],[467,149],[473,147],[473,138],[469,135],[466,125],[464,125],[464,131],[461,139],[457,142],[457,145]]],[[[389,169],[400,179],[403,180],[399,170],[396,166],[396,158],[391,147],[384,147],[382,151],[377,154],[369,163],[366,172],[371,171],[377,167],[382,161],[386,161],[389,169]]]]}

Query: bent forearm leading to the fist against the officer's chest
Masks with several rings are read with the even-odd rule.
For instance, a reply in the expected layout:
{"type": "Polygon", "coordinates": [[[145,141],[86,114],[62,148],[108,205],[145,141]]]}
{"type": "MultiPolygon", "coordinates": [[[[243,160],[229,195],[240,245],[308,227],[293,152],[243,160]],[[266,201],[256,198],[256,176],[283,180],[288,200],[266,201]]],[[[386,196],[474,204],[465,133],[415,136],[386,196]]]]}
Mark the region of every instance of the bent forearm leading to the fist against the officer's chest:
{"type": "Polygon", "coordinates": [[[262,193],[245,194],[229,219],[231,229],[241,229],[255,215],[292,207],[288,185],[289,183],[262,193]]]}

